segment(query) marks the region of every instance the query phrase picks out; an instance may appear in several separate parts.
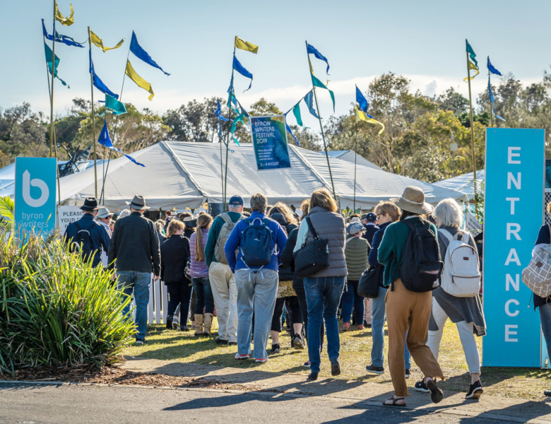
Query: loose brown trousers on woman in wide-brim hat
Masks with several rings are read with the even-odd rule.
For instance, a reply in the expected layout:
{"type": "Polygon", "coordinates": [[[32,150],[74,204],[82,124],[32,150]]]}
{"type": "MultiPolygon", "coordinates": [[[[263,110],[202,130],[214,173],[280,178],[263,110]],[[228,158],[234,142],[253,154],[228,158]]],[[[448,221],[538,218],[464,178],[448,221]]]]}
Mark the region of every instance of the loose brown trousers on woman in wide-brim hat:
{"type": "Polygon", "coordinates": [[[389,368],[394,394],[409,396],[405,384],[403,349],[405,334],[408,334],[408,349],[425,377],[444,379],[440,365],[427,346],[432,293],[416,293],[408,290],[402,280],[394,281],[386,292],[386,322],[389,326],[389,368]]]}

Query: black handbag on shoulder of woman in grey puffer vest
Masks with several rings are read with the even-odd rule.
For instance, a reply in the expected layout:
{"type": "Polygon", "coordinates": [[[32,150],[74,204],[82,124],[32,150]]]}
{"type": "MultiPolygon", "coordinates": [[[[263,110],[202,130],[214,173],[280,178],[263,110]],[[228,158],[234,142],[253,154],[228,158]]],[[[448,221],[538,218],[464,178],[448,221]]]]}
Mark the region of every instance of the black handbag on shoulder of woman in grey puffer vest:
{"type": "Polygon", "coordinates": [[[314,230],[310,218],[307,217],[305,220],[314,240],[308,244],[304,243],[293,255],[295,257],[295,276],[299,278],[309,277],[329,266],[329,240],[321,240],[314,230]]]}

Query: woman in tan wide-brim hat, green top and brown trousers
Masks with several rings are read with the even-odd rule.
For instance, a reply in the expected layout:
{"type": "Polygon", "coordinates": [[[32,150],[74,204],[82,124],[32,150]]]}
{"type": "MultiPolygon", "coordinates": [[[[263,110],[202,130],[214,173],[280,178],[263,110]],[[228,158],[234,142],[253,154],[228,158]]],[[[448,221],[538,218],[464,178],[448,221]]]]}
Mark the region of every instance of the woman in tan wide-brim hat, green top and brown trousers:
{"type": "MultiPolygon", "coordinates": [[[[425,375],[424,382],[436,404],[442,401],[442,390],[433,378],[444,379],[437,360],[427,346],[429,318],[432,305],[432,292],[413,292],[403,285],[399,265],[404,259],[405,245],[410,235],[410,227],[403,220],[411,220],[416,227],[426,225],[423,216],[432,213],[433,208],[425,202],[425,193],[417,187],[406,187],[402,196],[391,201],[401,208],[400,220],[389,225],[379,245],[377,259],[384,268],[384,286],[392,284],[392,290],[386,292],[386,321],[389,326],[389,368],[394,395],[384,401],[384,405],[405,406],[405,396],[409,396],[405,383],[405,364],[403,359],[404,338],[413,360],[425,375]]],[[[434,235],[437,228],[430,224],[434,235]]]]}

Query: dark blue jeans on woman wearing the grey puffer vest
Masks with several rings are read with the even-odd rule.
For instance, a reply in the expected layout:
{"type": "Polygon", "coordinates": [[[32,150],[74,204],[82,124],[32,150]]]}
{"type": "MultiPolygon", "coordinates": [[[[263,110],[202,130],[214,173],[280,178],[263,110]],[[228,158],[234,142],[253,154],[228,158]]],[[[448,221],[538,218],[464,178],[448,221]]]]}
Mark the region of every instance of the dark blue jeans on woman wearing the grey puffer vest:
{"type": "Polygon", "coordinates": [[[325,320],[329,360],[338,359],[340,341],[337,310],[345,281],[345,276],[304,278],[304,291],[308,304],[308,356],[312,372],[319,372],[321,363],[319,333],[322,320],[325,320]]]}

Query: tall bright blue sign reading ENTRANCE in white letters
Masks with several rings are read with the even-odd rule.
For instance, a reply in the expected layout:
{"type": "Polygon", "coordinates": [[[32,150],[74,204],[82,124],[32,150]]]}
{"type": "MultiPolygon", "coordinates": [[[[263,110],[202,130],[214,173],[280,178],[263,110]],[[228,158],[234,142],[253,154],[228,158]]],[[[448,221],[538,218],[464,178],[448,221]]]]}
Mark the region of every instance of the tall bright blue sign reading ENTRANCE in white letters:
{"type": "Polygon", "coordinates": [[[485,367],[540,366],[540,315],[521,273],[543,224],[544,167],[545,130],[486,130],[485,367]]]}

